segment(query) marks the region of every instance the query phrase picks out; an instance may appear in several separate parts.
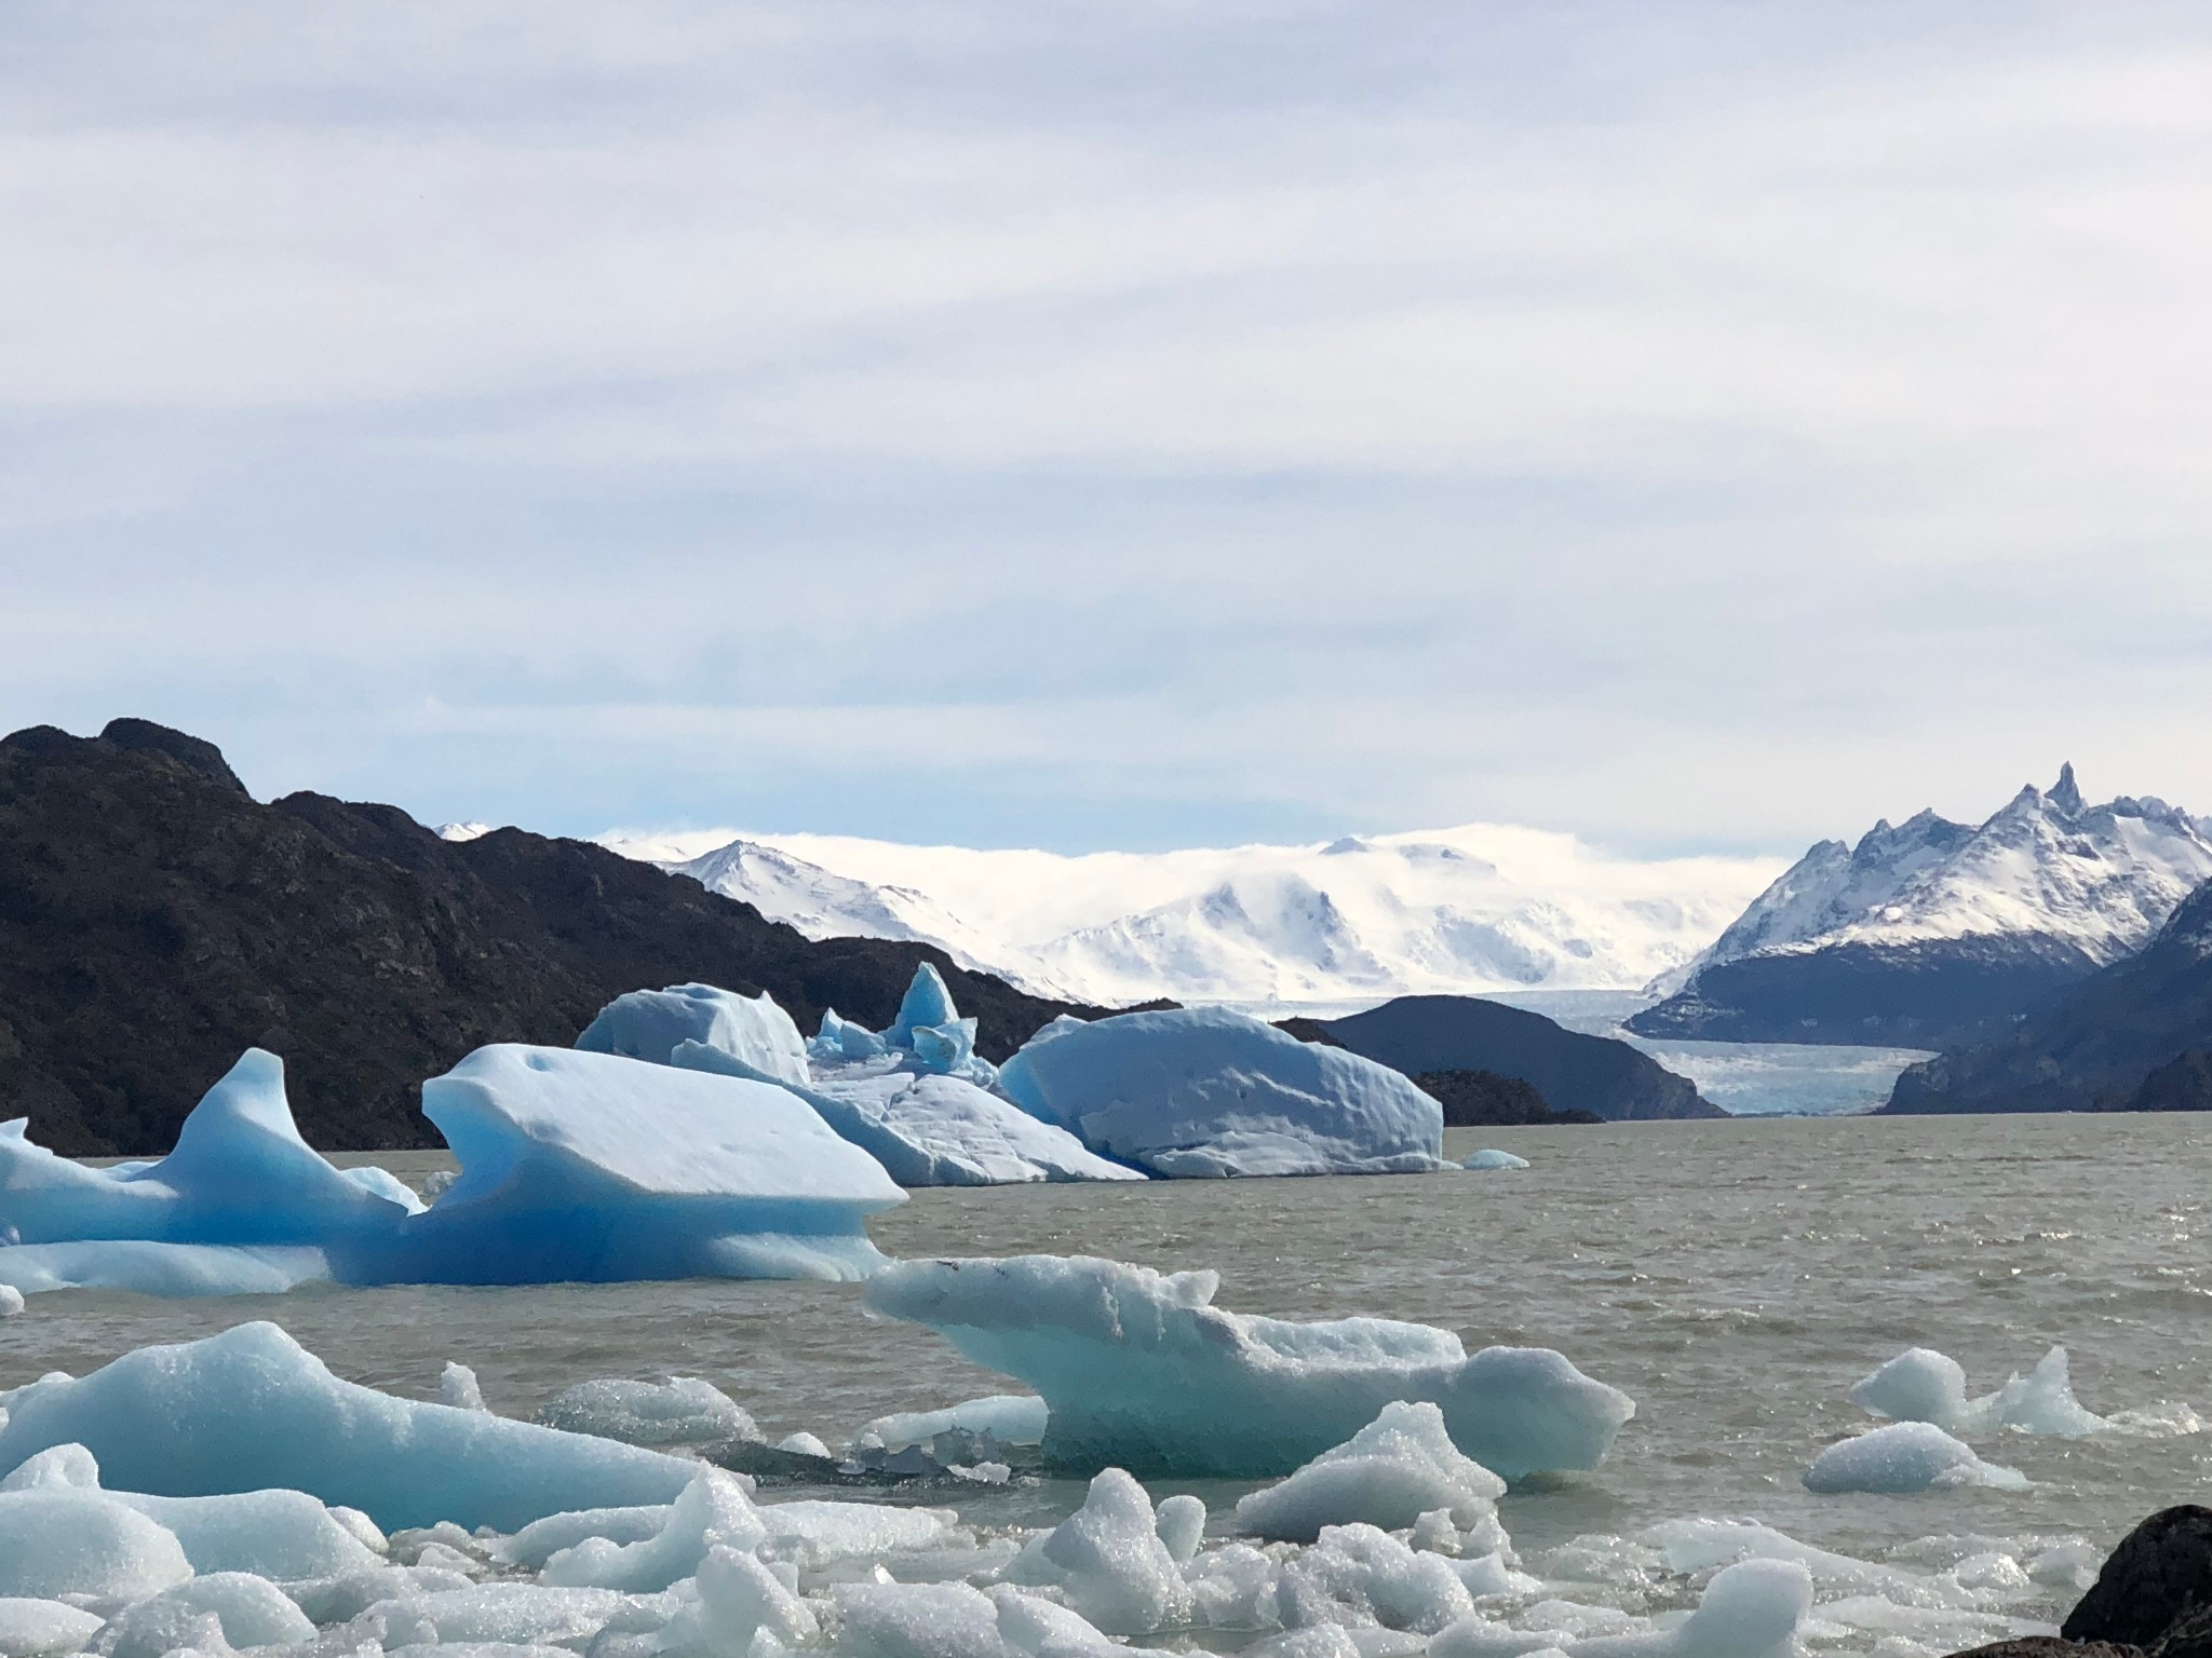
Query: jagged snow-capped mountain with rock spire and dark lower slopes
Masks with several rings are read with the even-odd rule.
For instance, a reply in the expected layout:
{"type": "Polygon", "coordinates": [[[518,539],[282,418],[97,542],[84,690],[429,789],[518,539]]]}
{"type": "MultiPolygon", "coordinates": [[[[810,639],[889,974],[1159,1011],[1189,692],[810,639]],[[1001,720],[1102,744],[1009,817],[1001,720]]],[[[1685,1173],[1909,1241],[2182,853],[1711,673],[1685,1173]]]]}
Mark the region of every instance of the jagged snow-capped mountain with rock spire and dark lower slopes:
{"type": "Polygon", "coordinates": [[[1951,1041],[2143,948],[2205,880],[2212,827],[2157,798],[2086,805],[2068,765],[1980,827],[1922,811],[1823,840],[1630,1028],[1951,1041]]]}

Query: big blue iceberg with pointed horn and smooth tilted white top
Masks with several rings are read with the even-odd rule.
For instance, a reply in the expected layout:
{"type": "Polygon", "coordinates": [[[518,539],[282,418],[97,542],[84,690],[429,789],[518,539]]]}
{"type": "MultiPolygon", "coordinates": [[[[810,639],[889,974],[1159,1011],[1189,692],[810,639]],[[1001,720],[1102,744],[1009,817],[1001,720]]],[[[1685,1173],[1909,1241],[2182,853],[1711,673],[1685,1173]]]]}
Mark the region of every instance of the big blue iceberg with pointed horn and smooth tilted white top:
{"type": "Polygon", "coordinates": [[[493,1046],[422,1085],[460,1178],[436,1207],[301,1141],[248,1050],[159,1163],[88,1169],[0,1130],[0,1284],[159,1295],[349,1284],[858,1278],[905,1194],[796,1094],[571,1048],[493,1046]]]}

